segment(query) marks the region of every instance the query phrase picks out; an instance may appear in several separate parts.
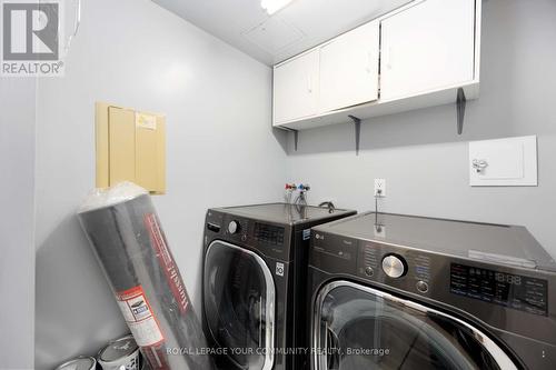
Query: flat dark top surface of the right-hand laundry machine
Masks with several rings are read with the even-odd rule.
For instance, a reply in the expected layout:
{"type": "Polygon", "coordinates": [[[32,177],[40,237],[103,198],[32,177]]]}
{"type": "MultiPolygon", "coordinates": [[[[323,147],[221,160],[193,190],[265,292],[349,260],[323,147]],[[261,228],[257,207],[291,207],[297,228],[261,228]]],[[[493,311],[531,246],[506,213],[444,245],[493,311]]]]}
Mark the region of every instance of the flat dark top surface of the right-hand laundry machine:
{"type": "Polygon", "coordinates": [[[367,212],[314,230],[493,264],[556,271],[555,260],[519,226],[367,212]]]}

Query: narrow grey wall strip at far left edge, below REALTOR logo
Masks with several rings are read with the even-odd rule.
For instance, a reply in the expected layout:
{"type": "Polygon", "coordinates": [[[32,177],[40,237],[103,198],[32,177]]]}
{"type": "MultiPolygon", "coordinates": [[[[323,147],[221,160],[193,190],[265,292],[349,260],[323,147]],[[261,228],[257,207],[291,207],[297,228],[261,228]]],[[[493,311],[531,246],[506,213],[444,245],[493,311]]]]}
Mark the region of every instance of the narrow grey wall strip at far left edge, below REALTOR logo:
{"type": "Polygon", "coordinates": [[[0,369],[33,368],[34,92],[0,78],[0,369]]]}

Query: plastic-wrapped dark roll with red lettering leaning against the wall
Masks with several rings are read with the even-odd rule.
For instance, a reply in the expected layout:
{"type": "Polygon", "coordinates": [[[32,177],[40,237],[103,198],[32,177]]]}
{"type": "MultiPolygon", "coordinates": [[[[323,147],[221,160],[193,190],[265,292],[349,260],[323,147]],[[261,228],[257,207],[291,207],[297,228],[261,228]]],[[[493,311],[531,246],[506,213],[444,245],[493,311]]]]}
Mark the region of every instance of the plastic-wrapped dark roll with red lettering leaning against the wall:
{"type": "Polygon", "coordinates": [[[206,340],[146,190],[95,191],[81,226],[137,344],[153,370],[212,369],[206,340]]]}

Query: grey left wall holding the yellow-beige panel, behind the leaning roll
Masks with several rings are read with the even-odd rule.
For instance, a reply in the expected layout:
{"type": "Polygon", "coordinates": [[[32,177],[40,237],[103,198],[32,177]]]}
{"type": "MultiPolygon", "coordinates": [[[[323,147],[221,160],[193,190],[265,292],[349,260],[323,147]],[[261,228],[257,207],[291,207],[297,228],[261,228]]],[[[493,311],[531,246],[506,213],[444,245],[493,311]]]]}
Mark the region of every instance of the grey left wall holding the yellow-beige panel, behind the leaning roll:
{"type": "Polygon", "coordinates": [[[167,116],[167,194],[153,200],[197,308],[207,208],[278,201],[286,178],[269,67],[148,0],[82,7],[66,76],[38,87],[39,370],[127,331],[75,214],[95,184],[95,101],[167,116]]]}

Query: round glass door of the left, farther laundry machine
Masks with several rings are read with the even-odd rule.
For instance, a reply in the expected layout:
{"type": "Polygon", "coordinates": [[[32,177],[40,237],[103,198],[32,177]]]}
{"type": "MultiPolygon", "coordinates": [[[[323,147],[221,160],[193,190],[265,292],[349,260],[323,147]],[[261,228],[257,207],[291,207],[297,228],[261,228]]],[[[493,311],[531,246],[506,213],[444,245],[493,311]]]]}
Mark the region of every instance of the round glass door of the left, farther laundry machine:
{"type": "Polygon", "coordinates": [[[271,369],[275,283],[256,253],[222,241],[207,249],[205,317],[215,341],[239,368],[271,369]]]}

